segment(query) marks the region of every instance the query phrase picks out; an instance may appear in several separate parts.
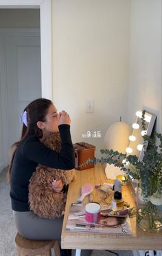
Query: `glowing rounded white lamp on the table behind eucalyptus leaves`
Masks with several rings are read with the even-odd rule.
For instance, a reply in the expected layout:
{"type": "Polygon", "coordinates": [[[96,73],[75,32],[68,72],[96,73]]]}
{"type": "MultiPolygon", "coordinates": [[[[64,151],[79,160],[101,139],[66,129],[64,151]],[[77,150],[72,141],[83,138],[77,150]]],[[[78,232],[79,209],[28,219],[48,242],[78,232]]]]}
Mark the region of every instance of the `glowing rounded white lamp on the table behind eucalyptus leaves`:
{"type": "MultiPolygon", "coordinates": [[[[126,122],[115,122],[111,125],[104,136],[104,149],[113,149],[120,153],[126,153],[126,148],[129,145],[129,136],[132,134],[132,127],[126,122]]],[[[115,179],[117,175],[126,174],[119,167],[113,164],[106,164],[106,177],[115,179]]]]}

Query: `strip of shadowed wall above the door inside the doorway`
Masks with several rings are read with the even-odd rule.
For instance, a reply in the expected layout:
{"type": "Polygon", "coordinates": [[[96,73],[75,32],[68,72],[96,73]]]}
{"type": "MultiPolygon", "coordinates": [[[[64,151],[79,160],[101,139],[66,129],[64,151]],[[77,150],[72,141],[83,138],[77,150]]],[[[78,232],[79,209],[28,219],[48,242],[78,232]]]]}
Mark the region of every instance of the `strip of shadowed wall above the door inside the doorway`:
{"type": "Polygon", "coordinates": [[[40,28],[39,9],[0,9],[0,28],[40,28]]]}

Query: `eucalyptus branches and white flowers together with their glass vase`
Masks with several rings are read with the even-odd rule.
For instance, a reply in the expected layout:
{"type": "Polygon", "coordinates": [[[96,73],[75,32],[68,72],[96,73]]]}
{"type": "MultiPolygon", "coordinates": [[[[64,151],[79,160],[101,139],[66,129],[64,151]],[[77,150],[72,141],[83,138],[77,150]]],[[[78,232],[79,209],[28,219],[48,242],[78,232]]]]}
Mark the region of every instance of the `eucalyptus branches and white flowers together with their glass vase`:
{"type": "MultiPolygon", "coordinates": [[[[145,130],[145,111],[142,114],[142,126],[145,130]]],[[[143,136],[143,159],[126,156],[118,151],[101,149],[104,157],[89,159],[83,164],[114,164],[126,171],[126,174],[138,181],[137,224],[146,231],[159,231],[162,228],[162,136],[154,132],[153,138],[143,136]],[[122,160],[122,161],[121,161],[122,160]]]]}

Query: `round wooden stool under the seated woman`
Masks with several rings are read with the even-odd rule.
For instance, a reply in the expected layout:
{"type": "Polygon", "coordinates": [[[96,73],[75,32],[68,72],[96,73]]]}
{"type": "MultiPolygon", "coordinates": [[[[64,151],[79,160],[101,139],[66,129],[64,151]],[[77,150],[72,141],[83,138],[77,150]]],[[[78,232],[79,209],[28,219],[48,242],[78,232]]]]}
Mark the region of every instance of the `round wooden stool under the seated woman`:
{"type": "Polygon", "coordinates": [[[19,233],[15,237],[15,247],[19,256],[51,256],[51,248],[54,247],[56,256],[60,256],[58,241],[36,241],[22,237],[19,233]]]}

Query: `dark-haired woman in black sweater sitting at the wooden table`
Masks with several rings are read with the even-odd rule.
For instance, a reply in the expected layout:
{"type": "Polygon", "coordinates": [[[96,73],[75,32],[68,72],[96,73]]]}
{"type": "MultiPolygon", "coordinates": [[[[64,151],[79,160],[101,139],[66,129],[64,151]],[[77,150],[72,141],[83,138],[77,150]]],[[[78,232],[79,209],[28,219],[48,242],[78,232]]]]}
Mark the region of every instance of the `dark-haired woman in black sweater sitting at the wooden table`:
{"type": "MultiPolygon", "coordinates": [[[[75,167],[75,153],[71,141],[71,119],[66,111],[58,111],[51,100],[39,98],[25,107],[21,140],[14,143],[14,152],[8,169],[10,198],[17,231],[27,239],[61,239],[63,217],[48,219],[30,211],[29,183],[38,164],[56,169],[75,167]],[[60,132],[60,152],[45,147],[43,140],[51,132],[60,132]]],[[[64,184],[56,180],[53,189],[60,192],[64,184]]],[[[66,254],[64,254],[66,255],[66,254]]]]}

